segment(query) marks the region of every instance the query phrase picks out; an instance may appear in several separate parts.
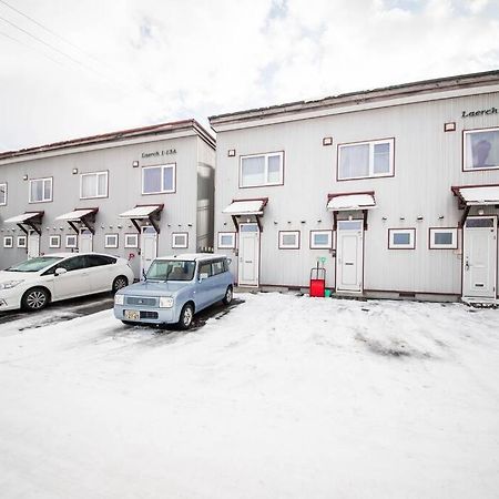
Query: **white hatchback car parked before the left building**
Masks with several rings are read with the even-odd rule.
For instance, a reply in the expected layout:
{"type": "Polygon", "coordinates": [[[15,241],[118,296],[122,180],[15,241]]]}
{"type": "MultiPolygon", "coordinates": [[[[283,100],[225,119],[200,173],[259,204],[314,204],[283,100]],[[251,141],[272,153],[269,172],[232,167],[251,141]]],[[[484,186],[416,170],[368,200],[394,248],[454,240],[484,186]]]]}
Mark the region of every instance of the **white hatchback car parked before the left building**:
{"type": "Polygon", "coordinates": [[[0,272],[0,312],[116,292],[133,283],[129,262],[101,253],[52,253],[0,272]]]}

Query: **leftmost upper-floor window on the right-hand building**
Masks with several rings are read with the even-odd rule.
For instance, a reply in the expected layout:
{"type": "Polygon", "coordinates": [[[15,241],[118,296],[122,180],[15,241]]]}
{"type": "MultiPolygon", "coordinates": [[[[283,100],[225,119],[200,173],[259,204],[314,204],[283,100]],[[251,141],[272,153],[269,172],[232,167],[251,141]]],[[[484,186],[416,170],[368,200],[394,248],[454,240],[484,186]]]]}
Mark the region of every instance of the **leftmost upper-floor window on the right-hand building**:
{"type": "Polygon", "coordinates": [[[282,185],[284,152],[241,156],[240,187],[282,185]]]}

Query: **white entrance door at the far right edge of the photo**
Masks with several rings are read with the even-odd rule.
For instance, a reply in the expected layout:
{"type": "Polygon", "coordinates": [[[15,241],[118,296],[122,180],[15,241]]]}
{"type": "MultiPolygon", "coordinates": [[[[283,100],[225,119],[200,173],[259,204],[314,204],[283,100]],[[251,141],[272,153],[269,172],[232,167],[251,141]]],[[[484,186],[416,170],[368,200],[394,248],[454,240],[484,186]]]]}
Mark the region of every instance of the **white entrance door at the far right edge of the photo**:
{"type": "Polygon", "coordinates": [[[497,218],[466,220],[462,245],[462,296],[496,298],[497,218]]]}

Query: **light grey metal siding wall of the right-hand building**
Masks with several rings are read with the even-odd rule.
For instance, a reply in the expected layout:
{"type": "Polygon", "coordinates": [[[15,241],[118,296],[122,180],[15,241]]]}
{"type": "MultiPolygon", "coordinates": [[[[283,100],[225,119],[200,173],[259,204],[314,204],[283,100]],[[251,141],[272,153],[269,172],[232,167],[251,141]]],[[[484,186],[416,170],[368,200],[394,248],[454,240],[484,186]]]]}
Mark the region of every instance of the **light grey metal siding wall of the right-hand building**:
{"type": "MultiPolygon", "coordinates": [[[[462,130],[499,125],[498,114],[462,119],[461,113],[492,106],[499,108],[498,93],[221,132],[215,232],[234,230],[222,214],[233,198],[268,196],[261,283],[306,286],[309,268],[326,253],[309,249],[309,231],[333,225],[327,193],[374,190],[378,207],[368,215],[364,287],[460,294],[461,241],[458,251],[428,249],[428,228],[457,226],[462,212],[451,185],[499,183],[499,171],[461,171],[462,130]],[[457,131],[445,133],[444,123],[451,121],[457,131]],[[322,145],[325,136],[333,136],[333,146],[322,145]],[[385,138],[395,138],[394,177],[336,181],[338,144],[385,138]],[[227,157],[230,149],[236,157],[227,157]],[[285,151],[284,186],[240,189],[240,156],[271,151],[285,151]],[[418,222],[418,216],[424,220],[418,222]],[[415,251],[388,249],[388,228],[398,227],[416,227],[415,251]],[[302,231],[302,249],[278,249],[277,234],[284,230],[302,231]]],[[[332,286],[334,259],[327,256],[332,286]]]]}

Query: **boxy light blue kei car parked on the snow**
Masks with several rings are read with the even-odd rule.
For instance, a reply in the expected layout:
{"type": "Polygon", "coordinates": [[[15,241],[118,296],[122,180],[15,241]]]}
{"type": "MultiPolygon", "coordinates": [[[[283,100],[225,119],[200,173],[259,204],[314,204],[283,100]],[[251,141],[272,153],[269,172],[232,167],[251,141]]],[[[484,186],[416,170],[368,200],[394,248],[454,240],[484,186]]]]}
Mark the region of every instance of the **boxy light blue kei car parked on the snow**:
{"type": "Polygon", "coordinates": [[[233,298],[230,259],[195,253],[156,258],[144,279],[114,295],[114,316],[124,324],[179,324],[187,329],[194,314],[233,298]]]}

